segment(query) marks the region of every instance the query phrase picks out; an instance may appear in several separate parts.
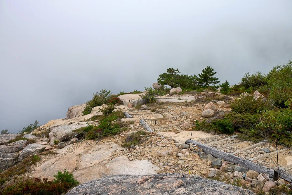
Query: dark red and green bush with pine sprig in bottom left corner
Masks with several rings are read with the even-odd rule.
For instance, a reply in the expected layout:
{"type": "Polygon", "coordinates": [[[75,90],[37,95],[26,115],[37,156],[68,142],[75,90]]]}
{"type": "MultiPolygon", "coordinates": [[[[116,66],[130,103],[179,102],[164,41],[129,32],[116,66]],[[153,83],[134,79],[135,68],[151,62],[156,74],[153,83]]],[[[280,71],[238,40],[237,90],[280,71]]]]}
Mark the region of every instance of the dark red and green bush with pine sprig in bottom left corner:
{"type": "Polygon", "coordinates": [[[35,194],[35,195],[61,195],[79,182],[74,180],[72,173],[68,171],[58,172],[56,179],[48,181],[48,178],[19,179],[1,190],[1,194],[35,194]]]}

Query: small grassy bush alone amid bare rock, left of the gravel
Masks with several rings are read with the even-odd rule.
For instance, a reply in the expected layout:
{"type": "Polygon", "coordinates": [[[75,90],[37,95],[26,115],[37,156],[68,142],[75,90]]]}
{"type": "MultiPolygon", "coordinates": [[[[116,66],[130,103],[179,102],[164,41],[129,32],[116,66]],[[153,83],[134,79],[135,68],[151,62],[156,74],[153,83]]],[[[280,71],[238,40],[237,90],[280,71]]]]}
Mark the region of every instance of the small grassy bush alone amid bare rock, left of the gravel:
{"type": "Polygon", "coordinates": [[[135,146],[138,146],[143,141],[145,141],[147,137],[149,137],[148,132],[145,131],[132,132],[127,136],[126,139],[124,139],[122,146],[124,148],[134,148],[135,146]]]}

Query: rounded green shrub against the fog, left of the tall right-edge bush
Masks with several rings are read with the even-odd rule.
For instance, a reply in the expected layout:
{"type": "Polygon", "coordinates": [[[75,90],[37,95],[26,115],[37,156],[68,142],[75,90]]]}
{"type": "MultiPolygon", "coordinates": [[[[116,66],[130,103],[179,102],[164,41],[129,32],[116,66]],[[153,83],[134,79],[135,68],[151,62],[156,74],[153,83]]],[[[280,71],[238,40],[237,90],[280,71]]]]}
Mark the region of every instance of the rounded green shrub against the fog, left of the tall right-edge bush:
{"type": "Polygon", "coordinates": [[[262,74],[261,72],[256,72],[252,75],[245,73],[244,77],[241,79],[241,84],[246,89],[258,89],[259,87],[267,84],[267,75],[262,74]]]}

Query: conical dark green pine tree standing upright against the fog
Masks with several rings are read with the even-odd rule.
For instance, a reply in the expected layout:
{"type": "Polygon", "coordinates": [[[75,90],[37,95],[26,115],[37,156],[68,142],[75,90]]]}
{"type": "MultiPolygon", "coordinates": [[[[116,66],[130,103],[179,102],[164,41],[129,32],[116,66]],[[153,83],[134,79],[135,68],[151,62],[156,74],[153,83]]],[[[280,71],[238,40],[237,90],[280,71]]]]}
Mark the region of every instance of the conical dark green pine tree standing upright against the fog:
{"type": "Polygon", "coordinates": [[[202,87],[209,87],[219,83],[218,78],[213,77],[216,73],[214,68],[207,66],[202,70],[202,73],[198,75],[198,84],[202,87]]]}

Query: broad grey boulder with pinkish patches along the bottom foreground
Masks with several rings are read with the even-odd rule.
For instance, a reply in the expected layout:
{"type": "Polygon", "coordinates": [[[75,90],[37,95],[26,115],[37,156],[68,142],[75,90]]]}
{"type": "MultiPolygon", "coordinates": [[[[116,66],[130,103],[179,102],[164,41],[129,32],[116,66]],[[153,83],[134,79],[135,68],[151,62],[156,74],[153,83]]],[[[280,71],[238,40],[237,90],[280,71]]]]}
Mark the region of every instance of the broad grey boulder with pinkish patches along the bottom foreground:
{"type": "Polygon", "coordinates": [[[253,194],[215,180],[185,174],[114,175],[78,185],[66,193],[76,194],[253,194]]]}

